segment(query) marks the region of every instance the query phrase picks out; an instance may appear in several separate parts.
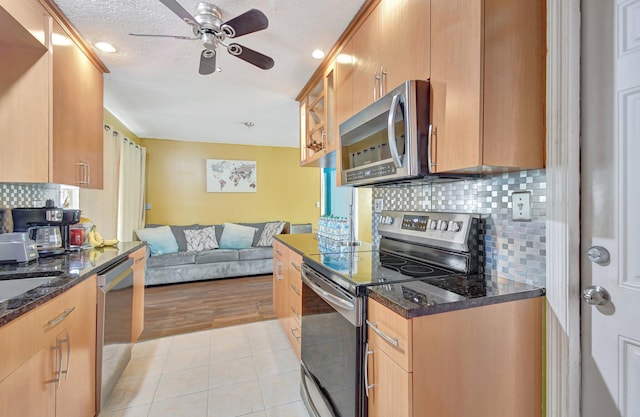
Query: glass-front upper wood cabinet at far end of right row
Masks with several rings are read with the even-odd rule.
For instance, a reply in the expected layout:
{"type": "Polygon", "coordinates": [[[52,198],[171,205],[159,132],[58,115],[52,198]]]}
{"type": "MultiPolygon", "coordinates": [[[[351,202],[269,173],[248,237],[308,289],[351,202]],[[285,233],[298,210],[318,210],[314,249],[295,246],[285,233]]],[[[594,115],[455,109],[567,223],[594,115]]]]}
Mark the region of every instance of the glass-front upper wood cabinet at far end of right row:
{"type": "Polygon", "coordinates": [[[331,64],[300,100],[300,164],[334,167],[338,148],[336,70],[331,64]]]}

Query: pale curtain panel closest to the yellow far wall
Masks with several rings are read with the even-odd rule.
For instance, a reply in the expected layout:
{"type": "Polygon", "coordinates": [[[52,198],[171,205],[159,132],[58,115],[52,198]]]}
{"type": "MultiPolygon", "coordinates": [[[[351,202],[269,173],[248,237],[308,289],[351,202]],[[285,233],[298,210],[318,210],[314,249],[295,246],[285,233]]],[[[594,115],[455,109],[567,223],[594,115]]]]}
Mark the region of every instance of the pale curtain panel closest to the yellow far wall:
{"type": "Polygon", "coordinates": [[[118,186],[118,240],[132,241],[134,232],[144,227],[146,148],[127,138],[120,143],[118,186]]]}

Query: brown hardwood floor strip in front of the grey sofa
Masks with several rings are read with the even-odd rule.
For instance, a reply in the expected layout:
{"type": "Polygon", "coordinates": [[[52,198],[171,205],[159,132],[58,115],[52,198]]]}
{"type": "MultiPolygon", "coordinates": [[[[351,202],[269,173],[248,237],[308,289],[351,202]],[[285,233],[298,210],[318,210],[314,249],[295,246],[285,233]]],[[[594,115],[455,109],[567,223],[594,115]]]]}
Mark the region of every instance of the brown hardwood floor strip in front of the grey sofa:
{"type": "Polygon", "coordinates": [[[273,318],[272,275],[153,286],[140,340],[273,318]]]}

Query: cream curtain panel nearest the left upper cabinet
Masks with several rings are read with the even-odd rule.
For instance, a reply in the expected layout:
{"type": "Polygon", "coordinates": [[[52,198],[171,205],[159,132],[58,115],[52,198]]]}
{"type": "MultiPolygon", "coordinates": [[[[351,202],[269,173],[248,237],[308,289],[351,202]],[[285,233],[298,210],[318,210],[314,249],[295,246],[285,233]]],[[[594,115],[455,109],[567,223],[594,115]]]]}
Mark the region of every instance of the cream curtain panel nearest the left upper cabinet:
{"type": "Polygon", "coordinates": [[[80,188],[82,215],[91,219],[106,239],[116,237],[118,231],[118,177],[120,143],[122,139],[111,126],[104,126],[103,135],[103,189],[80,188]]]}

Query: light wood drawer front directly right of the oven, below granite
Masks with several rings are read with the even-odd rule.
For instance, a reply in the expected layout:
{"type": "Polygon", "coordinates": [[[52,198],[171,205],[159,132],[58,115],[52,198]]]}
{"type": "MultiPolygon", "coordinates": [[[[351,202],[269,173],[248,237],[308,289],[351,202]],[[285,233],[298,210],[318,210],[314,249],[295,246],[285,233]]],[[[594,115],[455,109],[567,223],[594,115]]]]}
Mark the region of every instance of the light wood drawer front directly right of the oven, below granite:
{"type": "Polygon", "coordinates": [[[371,299],[367,307],[369,344],[377,346],[407,372],[412,372],[411,320],[371,299]]]}

